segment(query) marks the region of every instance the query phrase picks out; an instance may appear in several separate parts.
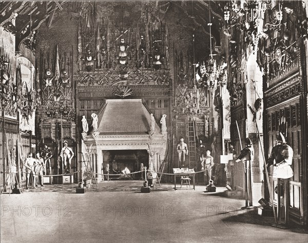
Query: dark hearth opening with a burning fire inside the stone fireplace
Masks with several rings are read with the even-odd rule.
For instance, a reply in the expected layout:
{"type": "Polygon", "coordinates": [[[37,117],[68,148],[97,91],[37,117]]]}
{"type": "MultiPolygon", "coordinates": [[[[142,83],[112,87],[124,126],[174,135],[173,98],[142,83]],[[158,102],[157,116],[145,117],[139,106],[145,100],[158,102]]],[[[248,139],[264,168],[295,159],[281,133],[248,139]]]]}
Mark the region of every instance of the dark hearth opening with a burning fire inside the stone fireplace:
{"type": "Polygon", "coordinates": [[[143,173],[133,173],[149,167],[149,156],[145,149],[104,150],[104,164],[109,164],[110,180],[143,180],[143,173]]]}

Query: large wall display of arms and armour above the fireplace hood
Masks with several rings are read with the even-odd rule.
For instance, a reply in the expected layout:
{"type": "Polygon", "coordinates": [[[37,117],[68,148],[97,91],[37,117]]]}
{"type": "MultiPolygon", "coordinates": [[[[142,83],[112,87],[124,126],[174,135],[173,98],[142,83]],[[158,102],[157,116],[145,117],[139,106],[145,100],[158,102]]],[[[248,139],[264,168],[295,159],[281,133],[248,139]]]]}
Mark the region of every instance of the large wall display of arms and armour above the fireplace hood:
{"type": "Polygon", "coordinates": [[[107,17],[101,21],[92,18],[96,12],[106,11],[105,7],[83,4],[78,30],[78,85],[171,84],[168,29],[151,6],[141,5],[141,19],[128,26],[112,24],[107,17]]]}

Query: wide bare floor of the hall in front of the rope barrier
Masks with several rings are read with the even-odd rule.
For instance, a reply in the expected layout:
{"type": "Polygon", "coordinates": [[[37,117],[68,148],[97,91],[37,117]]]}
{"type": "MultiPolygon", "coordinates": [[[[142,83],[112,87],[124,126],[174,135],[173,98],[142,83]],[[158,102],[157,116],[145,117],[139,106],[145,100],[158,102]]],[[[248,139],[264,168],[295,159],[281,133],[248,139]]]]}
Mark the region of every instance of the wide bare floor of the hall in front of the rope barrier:
{"type": "Polygon", "coordinates": [[[244,200],[142,181],[103,182],[85,194],[76,185],[45,185],[1,195],[1,242],[307,242],[307,231],[271,226],[272,217],[242,210],[244,200]]]}

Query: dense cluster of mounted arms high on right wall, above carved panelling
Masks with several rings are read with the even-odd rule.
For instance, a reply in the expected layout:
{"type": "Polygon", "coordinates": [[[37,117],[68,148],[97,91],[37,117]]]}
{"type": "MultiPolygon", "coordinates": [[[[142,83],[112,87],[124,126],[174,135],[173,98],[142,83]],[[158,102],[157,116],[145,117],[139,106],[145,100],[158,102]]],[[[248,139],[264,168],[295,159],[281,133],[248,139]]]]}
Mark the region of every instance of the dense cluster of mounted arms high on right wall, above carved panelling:
{"type": "Polygon", "coordinates": [[[300,19],[294,14],[294,6],[295,2],[279,2],[265,11],[258,63],[264,70],[268,86],[290,75],[299,66],[297,35],[301,30],[295,28],[300,19]]]}

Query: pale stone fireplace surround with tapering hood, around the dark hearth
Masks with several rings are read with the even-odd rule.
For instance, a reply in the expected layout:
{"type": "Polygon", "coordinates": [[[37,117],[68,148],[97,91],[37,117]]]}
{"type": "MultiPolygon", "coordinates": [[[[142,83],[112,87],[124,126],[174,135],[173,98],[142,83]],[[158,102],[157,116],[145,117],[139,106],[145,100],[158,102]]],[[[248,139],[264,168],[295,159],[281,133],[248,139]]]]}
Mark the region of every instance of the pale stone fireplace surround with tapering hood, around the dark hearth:
{"type": "Polygon", "coordinates": [[[107,164],[110,173],[122,171],[125,167],[130,172],[137,171],[140,163],[158,170],[165,159],[167,136],[161,133],[158,124],[149,134],[150,112],[141,99],[106,100],[97,115],[98,131],[83,136],[85,146],[82,146],[82,152],[85,153],[86,148],[93,149],[91,160],[98,181],[104,180],[100,173],[106,173],[103,168],[107,164]],[[136,162],[138,151],[143,162],[136,162]],[[115,165],[117,169],[114,169],[115,165]]]}

